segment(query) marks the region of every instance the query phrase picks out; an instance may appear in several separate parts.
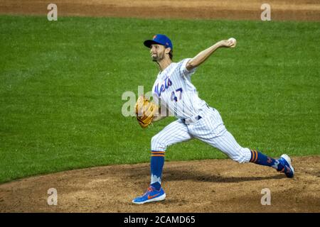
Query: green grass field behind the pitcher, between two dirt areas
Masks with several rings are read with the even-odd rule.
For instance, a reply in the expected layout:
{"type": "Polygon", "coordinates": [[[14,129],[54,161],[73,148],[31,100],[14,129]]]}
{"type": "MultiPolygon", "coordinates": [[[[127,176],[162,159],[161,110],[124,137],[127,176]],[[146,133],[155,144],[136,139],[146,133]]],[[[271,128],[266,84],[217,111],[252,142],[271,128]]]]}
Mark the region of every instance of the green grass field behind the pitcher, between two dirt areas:
{"type": "MultiPolygon", "coordinates": [[[[122,116],[122,94],[157,74],[142,44],[169,35],[174,60],[235,37],[193,75],[238,142],[267,155],[319,155],[320,23],[0,16],[0,182],[82,167],[149,162],[150,140],[122,116]]],[[[197,140],[166,160],[225,158],[197,140]]]]}

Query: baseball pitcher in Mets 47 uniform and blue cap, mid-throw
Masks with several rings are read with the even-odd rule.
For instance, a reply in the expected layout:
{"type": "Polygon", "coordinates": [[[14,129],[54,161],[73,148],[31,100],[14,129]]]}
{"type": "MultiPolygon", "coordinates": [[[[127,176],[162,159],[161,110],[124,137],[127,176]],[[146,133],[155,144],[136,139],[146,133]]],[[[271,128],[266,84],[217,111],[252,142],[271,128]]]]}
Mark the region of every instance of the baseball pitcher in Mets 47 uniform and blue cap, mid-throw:
{"type": "Polygon", "coordinates": [[[150,49],[151,59],[159,66],[159,74],[152,87],[154,101],[140,96],[136,104],[137,120],[143,128],[151,122],[159,121],[169,113],[177,120],[170,123],[151,139],[151,183],[146,192],[135,199],[134,204],[161,201],[166,198],[161,187],[161,174],[164,166],[166,148],[175,143],[197,138],[218,148],[236,162],[253,162],[273,167],[294,177],[294,168],[288,155],[274,159],[257,150],[242,148],[233,135],[227,131],[218,110],[208,106],[198,97],[191,77],[203,62],[218,48],[235,48],[235,38],[220,40],[193,58],[173,62],[173,45],[166,35],[154,35],[152,40],[144,41],[150,49]],[[164,111],[165,110],[165,111],[164,111]]]}

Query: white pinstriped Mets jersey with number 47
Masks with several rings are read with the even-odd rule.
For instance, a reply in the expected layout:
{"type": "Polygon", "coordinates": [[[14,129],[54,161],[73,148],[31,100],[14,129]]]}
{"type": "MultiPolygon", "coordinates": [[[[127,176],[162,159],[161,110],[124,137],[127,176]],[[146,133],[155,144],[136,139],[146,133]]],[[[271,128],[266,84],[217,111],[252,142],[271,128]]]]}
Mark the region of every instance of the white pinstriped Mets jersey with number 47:
{"type": "Polygon", "coordinates": [[[191,83],[191,74],[196,68],[188,71],[186,63],[191,58],[172,62],[166,69],[159,72],[152,87],[154,101],[163,108],[169,109],[177,118],[191,118],[198,116],[199,111],[206,107],[206,101],[198,97],[196,87],[191,83]]]}

